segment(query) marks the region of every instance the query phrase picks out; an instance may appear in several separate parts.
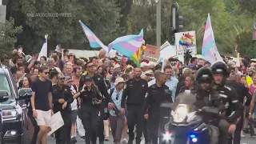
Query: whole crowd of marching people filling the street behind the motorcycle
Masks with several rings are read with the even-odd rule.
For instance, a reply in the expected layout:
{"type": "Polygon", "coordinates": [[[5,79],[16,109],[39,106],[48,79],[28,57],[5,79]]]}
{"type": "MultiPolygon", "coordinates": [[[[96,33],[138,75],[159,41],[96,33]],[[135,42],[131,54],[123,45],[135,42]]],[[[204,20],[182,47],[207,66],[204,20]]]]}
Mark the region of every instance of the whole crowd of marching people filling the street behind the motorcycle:
{"type": "MultiPolygon", "coordinates": [[[[170,59],[166,66],[148,60],[136,66],[128,58],[106,57],[105,50],[98,57],[75,58],[58,47],[50,58],[42,56],[38,61],[38,52],[27,60],[21,51],[18,46],[10,57],[4,55],[2,64],[10,67],[18,88],[33,90],[28,105],[33,144],[47,143],[51,115],[59,111],[64,126],[53,135],[57,144],[75,143],[77,135],[87,144],[97,143],[97,138],[102,144],[110,141],[110,131],[116,144],[134,140],[138,144],[142,138],[146,143],[158,143],[160,103],[175,102],[178,94],[197,91],[197,71],[210,66],[200,58],[190,58],[187,65],[170,59]]],[[[247,119],[253,124],[256,65],[250,58],[243,58],[241,66],[223,59],[229,72],[226,85],[237,90],[238,102],[245,107],[239,122],[229,127],[237,144],[248,130],[247,119]]],[[[216,74],[214,80],[218,81],[216,74]]],[[[236,99],[232,102],[235,105],[236,99]]],[[[254,137],[254,131],[250,132],[254,137]]]]}

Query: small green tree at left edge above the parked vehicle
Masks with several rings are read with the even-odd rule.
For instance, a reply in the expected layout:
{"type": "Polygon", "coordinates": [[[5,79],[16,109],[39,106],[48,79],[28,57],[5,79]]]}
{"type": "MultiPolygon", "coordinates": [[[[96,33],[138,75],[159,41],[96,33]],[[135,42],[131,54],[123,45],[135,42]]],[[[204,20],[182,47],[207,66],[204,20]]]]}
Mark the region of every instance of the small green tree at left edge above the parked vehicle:
{"type": "Polygon", "coordinates": [[[14,19],[0,23],[0,54],[9,54],[17,42],[17,34],[22,33],[22,26],[14,26],[14,19]]]}

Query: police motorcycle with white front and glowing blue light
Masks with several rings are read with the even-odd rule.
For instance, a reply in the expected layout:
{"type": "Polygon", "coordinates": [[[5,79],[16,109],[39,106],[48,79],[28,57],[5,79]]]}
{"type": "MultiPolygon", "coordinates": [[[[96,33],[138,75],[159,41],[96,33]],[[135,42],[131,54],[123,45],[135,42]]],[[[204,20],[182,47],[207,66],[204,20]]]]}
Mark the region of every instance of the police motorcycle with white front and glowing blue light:
{"type": "MultiPolygon", "coordinates": [[[[182,93],[178,95],[176,102],[169,105],[171,109],[170,121],[164,127],[163,142],[160,143],[210,144],[210,132],[215,132],[218,135],[218,128],[213,126],[212,122],[214,121],[211,121],[218,118],[218,108],[204,106],[200,110],[195,106],[195,102],[196,96],[194,94],[182,93]],[[210,114],[213,118],[206,120],[202,114],[210,114]]],[[[162,106],[168,107],[166,103],[162,106]]]]}

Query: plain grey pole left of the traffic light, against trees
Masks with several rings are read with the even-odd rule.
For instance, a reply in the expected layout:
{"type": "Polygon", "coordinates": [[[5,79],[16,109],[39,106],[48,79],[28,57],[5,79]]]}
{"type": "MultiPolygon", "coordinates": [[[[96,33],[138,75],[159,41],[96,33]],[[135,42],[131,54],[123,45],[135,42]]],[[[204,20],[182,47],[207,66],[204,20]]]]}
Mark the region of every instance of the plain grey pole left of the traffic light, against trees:
{"type": "Polygon", "coordinates": [[[156,31],[156,35],[157,35],[157,46],[160,47],[161,46],[161,0],[155,0],[155,2],[157,3],[157,31],[156,31]]]}

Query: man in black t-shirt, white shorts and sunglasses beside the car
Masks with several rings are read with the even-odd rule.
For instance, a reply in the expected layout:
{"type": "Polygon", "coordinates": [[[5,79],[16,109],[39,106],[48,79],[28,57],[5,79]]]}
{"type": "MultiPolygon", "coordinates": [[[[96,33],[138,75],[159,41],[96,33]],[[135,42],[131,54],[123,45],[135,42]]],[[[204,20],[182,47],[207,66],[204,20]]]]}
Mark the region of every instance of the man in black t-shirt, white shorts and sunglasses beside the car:
{"type": "Polygon", "coordinates": [[[31,105],[33,116],[36,119],[40,131],[38,132],[37,143],[47,143],[47,132],[50,127],[50,118],[54,114],[52,110],[53,97],[51,94],[52,83],[49,78],[49,69],[46,66],[39,67],[40,77],[32,83],[33,94],[31,105]]]}

